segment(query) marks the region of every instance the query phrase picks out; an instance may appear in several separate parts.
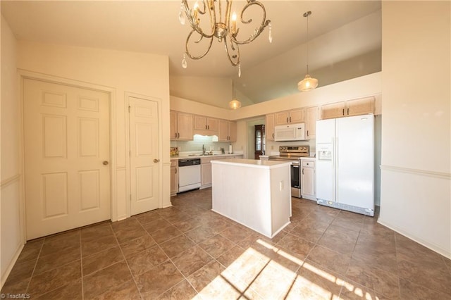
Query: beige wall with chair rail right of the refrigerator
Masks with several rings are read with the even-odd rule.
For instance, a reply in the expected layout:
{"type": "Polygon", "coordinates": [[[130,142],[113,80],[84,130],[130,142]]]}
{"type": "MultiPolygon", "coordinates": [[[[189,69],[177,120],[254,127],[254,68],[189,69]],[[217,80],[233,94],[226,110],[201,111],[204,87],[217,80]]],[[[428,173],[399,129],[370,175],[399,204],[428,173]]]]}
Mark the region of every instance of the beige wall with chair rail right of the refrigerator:
{"type": "Polygon", "coordinates": [[[383,1],[379,222],[451,258],[450,1],[383,1]]]}

